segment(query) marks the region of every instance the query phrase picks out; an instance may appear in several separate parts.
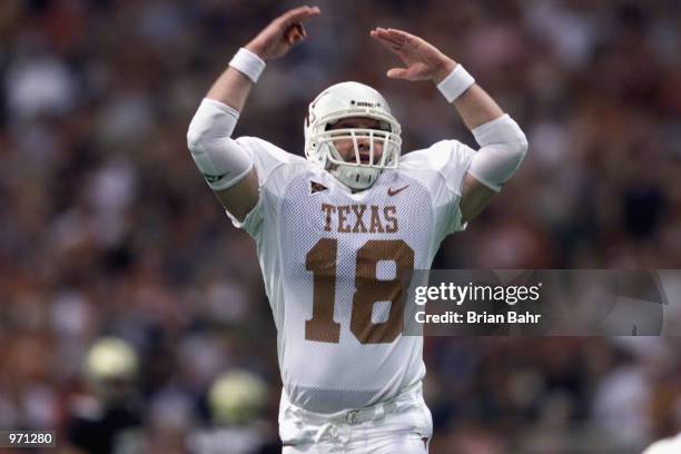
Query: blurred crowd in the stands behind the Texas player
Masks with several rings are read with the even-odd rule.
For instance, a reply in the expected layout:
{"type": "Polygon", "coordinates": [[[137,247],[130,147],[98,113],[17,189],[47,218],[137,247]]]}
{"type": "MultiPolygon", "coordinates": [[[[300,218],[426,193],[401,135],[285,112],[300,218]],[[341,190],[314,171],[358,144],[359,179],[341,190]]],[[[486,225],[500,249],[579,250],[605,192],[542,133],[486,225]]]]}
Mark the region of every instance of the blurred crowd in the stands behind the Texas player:
{"type": "MultiPolygon", "coordinates": [[[[385,77],[398,62],[368,30],[403,28],[464,63],[530,141],[436,267],[680,267],[679,0],[316,4],[308,40],[268,65],[237,135],[302,155],[307,103],[357,80],[386,96],[404,150],[474,146],[432,83],[385,77]]],[[[231,55],[293,6],[0,2],[0,428],[52,427],[65,447],[75,418],[101,415],[108,399],[82,371],[106,335],[138,357],[132,383],[111,386],[131,387],[121,395],[142,452],[200,451],[186,441],[219,426],[208,389],[234,369],[267,383],[258,433],[276,446],[276,333],[254,244],[185,135],[231,55]]],[[[681,283],[665,285],[678,302],[681,283]]],[[[681,430],[679,347],[427,338],[431,452],[640,452],[681,430]]]]}

